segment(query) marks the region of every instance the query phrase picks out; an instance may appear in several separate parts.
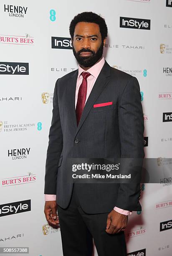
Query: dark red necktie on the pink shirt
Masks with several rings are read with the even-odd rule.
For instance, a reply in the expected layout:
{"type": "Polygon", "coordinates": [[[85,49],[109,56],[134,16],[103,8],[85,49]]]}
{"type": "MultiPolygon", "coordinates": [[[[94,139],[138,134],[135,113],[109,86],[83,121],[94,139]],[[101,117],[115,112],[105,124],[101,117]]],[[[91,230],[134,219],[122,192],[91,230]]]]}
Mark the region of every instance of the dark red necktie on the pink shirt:
{"type": "Polygon", "coordinates": [[[87,92],[87,77],[89,77],[91,74],[88,72],[82,72],[81,73],[83,80],[82,83],[79,87],[78,91],[78,100],[76,104],[76,120],[77,120],[77,125],[81,119],[81,115],[83,112],[83,108],[85,106],[86,102],[86,92],[87,92]]]}

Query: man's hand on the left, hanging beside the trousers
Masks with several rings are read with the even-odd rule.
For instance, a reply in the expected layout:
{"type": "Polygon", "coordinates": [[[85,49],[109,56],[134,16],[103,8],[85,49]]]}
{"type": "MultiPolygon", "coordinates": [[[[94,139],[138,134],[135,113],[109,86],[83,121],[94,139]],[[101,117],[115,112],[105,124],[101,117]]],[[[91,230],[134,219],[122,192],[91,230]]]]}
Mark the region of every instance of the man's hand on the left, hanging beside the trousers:
{"type": "Polygon", "coordinates": [[[59,220],[57,215],[57,203],[56,201],[46,201],[44,207],[44,213],[46,215],[46,220],[49,225],[58,226],[59,220]]]}

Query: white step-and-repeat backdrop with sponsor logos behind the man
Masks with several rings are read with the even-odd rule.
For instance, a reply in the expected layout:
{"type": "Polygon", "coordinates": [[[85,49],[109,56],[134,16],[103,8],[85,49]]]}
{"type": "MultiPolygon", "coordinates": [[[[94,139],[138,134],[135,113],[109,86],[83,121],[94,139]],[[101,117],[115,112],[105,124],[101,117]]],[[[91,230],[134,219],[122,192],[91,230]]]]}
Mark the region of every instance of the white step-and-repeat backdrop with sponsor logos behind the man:
{"type": "MultiPolygon", "coordinates": [[[[60,228],[43,212],[45,161],[55,82],[77,69],[69,24],[83,11],[106,20],[106,61],[139,80],[145,157],[172,166],[172,0],[1,1],[0,247],[29,247],[30,256],[63,255],[60,228]]],[[[128,255],[172,255],[170,179],[142,184],[128,255]]]]}

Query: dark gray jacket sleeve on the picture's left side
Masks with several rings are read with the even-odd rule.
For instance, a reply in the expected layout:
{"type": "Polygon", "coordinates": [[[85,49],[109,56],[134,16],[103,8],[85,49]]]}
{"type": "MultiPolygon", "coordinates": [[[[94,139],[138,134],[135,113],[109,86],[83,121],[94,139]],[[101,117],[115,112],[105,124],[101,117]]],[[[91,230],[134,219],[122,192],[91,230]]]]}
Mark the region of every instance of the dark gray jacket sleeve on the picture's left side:
{"type": "Polygon", "coordinates": [[[49,142],[46,157],[46,174],[44,194],[56,195],[56,181],[58,172],[58,161],[63,148],[63,134],[61,129],[61,120],[58,108],[57,94],[58,80],[53,94],[53,115],[49,132],[49,142]]]}

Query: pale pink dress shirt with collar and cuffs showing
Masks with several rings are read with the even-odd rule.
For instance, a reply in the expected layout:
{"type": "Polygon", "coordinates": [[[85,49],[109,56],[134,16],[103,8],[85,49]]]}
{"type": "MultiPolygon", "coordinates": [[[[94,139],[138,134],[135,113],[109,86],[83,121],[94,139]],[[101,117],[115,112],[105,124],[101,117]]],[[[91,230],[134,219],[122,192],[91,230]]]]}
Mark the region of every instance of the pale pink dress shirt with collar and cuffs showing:
{"type": "MultiPolygon", "coordinates": [[[[87,95],[86,95],[86,101],[91,93],[91,90],[93,89],[94,83],[96,82],[97,77],[99,76],[99,73],[101,72],[102,67],[104,66],[104,57],[94,66],[92,66],[90,69],[88,69],[87,71],[85,71],[84,69],[82,69],[79,64],[78,64],[78,78],[77,78],[77,82],[76,82],[76,94],[75,94],[75,108],[76,108],[76,103],[77,103],[77,99],[78,99],[78,91],[79,91],[79,87],[82,83],[82,79],[83,77],[81,76],[82,72],[89,72],[91,74],[91,76],[89,76],[87,78],[87,95]]],[[[53,201],[56,200],[56,195],[45,195],[45,201],[53,201]]],[[[116,212],[119,212],[121,214],[124,215],[131,215],[132,212],[127,211],[127,210],[123,210],[119,207],[114,207],[114,210],[116,212]]]]}

